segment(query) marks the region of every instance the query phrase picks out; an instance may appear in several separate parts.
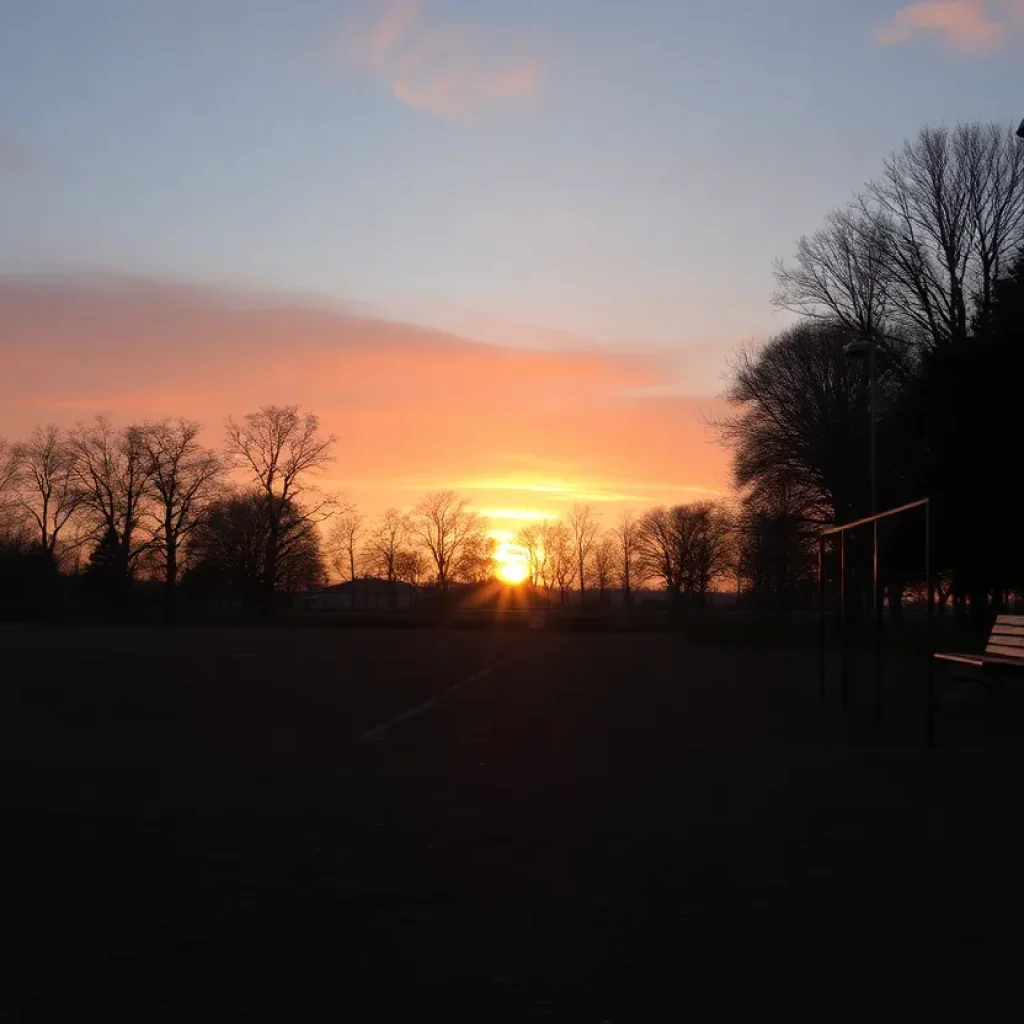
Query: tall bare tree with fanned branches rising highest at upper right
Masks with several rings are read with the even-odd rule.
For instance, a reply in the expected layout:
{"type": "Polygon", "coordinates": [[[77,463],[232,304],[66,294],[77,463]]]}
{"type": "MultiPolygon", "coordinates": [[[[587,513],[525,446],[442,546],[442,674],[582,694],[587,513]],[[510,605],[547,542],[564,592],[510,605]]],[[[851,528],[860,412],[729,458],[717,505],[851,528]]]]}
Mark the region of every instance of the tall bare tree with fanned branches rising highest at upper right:
{"type": "Polygon", "coordinates": [[[777,305],[927,348],[991,317],[1024,241],[1024,147],[996,124],[925,128],[850,208],[775,266],[777,305]]]}

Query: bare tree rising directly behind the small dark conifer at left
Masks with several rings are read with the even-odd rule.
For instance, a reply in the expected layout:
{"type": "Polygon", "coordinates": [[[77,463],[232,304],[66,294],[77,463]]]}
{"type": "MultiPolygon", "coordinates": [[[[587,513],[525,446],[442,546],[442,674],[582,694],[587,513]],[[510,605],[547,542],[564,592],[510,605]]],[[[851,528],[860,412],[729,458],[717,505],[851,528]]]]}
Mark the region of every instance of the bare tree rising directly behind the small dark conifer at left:
{"type": "Polygon", "coordinates": [[[92,424],[80,423],[70,440],[79,505],[93,538],[106,545],[113,571],[126,581],[148,546],[138,540],[154,493],[144,431],[116,430],[105,416],[97,416],[92,424]]]}

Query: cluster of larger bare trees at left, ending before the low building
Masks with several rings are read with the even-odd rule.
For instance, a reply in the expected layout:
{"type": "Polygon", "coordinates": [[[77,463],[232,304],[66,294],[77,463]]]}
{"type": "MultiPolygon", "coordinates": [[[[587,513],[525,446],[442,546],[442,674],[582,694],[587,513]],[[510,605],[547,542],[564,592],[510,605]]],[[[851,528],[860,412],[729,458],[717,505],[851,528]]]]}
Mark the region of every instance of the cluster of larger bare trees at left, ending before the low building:
{"type": "MultiPolygon", "coordinates": [[[[5,593],[42,600],[61,574],[96,603],[160,580],[272,599],[318,578],[316,524],[334,499],[310,486],[335,439],[298,407],[228,420],[222,451],[187,419],[116,427],[104,416],[70,430],[37,427],[0,441],[0,565],[5,593]],[[237,479],[231,479],[231,474],[237,479]],[[23,588],[28,587],[28,592],[23,588]]],[[[52,596],[52,595],[50,595],[52,596]]]]}

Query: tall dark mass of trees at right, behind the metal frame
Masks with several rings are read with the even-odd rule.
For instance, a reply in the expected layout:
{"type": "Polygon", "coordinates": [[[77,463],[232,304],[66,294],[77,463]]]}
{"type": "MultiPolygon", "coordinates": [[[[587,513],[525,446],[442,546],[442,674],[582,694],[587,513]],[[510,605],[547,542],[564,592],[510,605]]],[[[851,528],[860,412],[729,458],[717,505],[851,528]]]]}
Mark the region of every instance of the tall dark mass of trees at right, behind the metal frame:
{"type": "MultiPolygon", "coordinates": [[[[733,451],[746,558],[776,601],[815,573],[818,530],[929,497],[939,607],[983,615],[1024,587],[1024,145],[995,124],[925,128],[775,266],[797,323],[732,367],[719,421],[733,451]],[[862,348],[863,346],[861,346],[862,348]]],[[[922,522],[885,531],[888,606],[923,581],[922,522]]],[[[867,541],[851,535],[853,575],[867,541]]],[[[848,595],[860,606],[864,588],[848,595]]]]}

